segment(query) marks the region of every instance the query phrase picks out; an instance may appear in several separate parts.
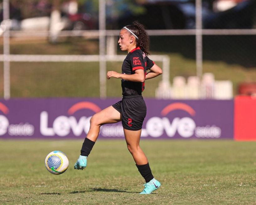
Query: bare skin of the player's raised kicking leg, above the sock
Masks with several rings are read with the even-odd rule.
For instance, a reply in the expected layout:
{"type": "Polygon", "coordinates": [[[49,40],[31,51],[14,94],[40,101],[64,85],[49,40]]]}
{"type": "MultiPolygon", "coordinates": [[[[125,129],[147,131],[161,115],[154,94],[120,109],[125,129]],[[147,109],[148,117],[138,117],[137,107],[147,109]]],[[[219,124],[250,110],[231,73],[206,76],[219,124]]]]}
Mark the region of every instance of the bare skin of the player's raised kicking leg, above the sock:
{"type": "Polygon", "coordinates": [[[96,142],[99,136],[101,125],[117,123],[120,121],[121,115],[115,108],[113,108],[113,106],[105,108],[99,113],[94,114],[93,117],[90,119],[90,129],[87,134],[87,138],[92,140],[93,142],[96,142]]]}

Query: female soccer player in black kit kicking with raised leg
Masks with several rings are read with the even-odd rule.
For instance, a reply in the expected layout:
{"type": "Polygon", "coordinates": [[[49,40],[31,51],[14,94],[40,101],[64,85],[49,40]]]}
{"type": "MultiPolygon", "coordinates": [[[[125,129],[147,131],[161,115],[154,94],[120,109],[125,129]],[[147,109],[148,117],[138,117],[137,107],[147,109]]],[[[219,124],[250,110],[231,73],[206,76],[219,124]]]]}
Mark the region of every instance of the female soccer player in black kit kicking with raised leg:
{"type": "Polygon", "coordinates": [[[162,74],[162,69],[147,57],[149,37],[143,25],[138,22],[133,22],[132,25],[120,30],[118,44],[121,50],[128,52],[128,55],[123,62],[122,73],[109,71],[107,79],[121,79],[123,99],[94,114],[90,119],[90,129],[74,168],[83,170],[86,167],[87,157],[99,136],[101,125],[122,121],[127,148],[146,181],[141,194],[150,194],[161,184],[153,177],[147,157],[139,145],[142,123],[147,112],[141,92],[144,90],[144,81],[162,74]]]}

